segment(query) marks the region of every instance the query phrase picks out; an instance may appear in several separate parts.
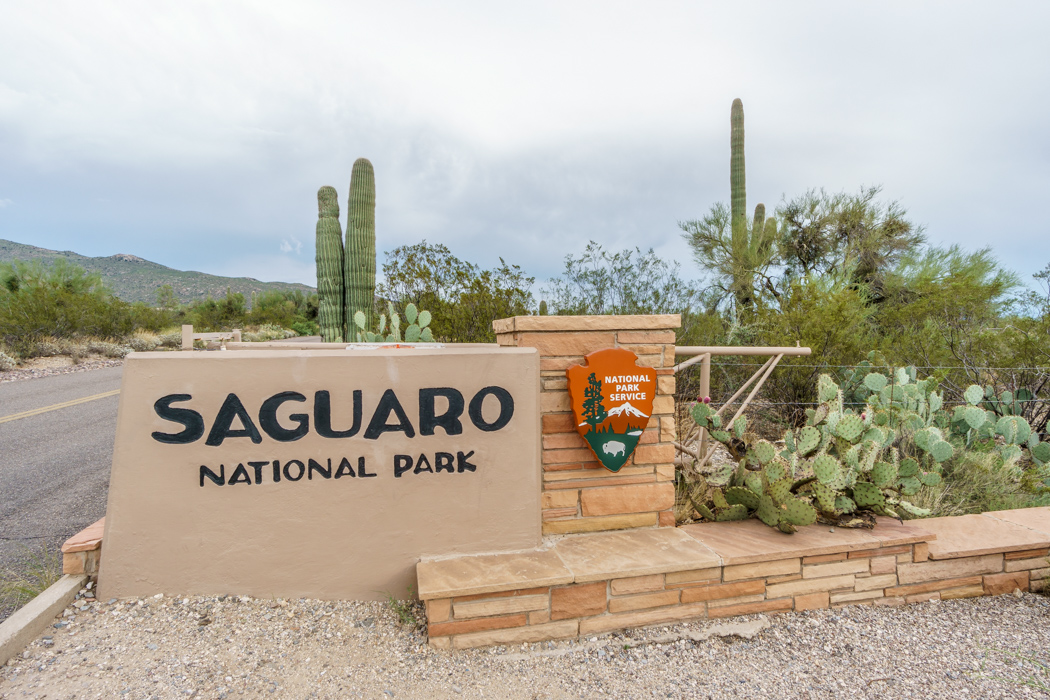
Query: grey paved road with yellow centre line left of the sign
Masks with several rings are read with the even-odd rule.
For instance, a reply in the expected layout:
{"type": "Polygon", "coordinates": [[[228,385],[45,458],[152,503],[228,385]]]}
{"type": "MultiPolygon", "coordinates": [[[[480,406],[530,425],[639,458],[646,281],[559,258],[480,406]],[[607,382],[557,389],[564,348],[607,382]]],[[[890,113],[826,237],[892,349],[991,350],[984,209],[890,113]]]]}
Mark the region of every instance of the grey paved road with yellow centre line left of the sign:
{"type": "MultiPolygon", "coordinates": [[[[0,421],[113,391],[123,367],[0,384],[0,421]]],[[[117,396],[0,422],[0,571],[106,512],[117,396]]],[[[9,611],[0,610],[0,620],[9,611]]]]}

